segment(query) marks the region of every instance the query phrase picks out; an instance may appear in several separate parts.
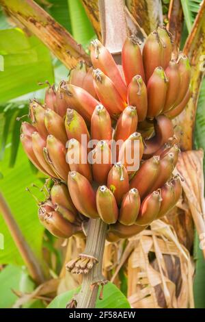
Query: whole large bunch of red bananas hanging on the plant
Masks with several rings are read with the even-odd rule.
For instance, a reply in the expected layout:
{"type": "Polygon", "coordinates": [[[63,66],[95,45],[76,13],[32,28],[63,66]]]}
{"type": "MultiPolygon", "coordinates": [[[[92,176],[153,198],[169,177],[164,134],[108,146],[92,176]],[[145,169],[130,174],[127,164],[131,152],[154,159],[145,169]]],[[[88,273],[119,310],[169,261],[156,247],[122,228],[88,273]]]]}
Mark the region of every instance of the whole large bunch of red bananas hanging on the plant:
{"type": "Polygon", "coordinates": [[[87,217],[100,217],[109,240],[128,238],[176,205],[182,188],[172,173],[180,137],[170,119],[190,95],[190,68],[182,53],[176,62],[171,55],[164,27],[148,36],[142,53],[135,37],[127,38],[122,74],[95,40],[93,71],[80,63],[68,82],[49,86],[44,104],[31,101],[31,123],[22,124],[20,140],[31,162],[58,182],[40,205],[40,221],[55,236],[68,238],[87,217]],[[112,138],[122,143],[115,158],[112,138]],[[94,145],[85,145],[90,139],[94,145]]]}

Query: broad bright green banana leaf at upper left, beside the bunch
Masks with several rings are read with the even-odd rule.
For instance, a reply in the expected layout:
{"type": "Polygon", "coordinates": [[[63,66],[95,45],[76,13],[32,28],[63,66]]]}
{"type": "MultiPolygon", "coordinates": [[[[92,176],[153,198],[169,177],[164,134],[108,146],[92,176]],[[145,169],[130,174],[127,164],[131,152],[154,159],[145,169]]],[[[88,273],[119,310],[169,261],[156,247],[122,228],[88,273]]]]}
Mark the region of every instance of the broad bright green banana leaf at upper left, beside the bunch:
{"type": "Polygon", "coordinates": [[[39,89],[38,82],[53,82],[51,55],[35,36],[27,37],[18,28],[1,30],[0,55],[4,60],[0,102],[39,89]]]}

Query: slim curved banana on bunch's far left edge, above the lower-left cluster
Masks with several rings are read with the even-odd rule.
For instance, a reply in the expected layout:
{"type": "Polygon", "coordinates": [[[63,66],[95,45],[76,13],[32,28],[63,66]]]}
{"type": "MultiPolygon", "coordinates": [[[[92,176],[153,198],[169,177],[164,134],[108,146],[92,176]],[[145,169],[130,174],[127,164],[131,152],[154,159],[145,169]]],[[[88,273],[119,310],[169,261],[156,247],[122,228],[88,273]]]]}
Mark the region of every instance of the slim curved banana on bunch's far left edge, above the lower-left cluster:
{"type": "Polygon", "coordinates": [[[27,154],[27,157],[34,164],[34,166],[36,166],[36,168],[39,171],[41,171],[42,173],[44,173],[45,175],[48,175],[48,173],[46,173],[45,169],[42,167],[40,162],[38,162],[38,159],[36,158],[36,156],[33,152],[31,136],[26,136],[24,134],[20,134],[20,142],[23,145],[23,149],[24,149],[25,153],[27,154]]]}

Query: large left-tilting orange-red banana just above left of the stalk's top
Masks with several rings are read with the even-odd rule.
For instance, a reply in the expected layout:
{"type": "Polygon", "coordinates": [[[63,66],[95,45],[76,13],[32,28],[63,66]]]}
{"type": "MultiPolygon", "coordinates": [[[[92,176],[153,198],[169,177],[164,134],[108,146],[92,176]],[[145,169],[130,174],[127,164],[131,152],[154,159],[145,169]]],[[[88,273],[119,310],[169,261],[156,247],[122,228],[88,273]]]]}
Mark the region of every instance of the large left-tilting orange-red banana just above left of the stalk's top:
{"type": "Polygon", "coordinates": [[[96,193],[90,182],[80,173],[68,173],[68,190],[75,208],[88,218],[98,218],[96,193]]]}

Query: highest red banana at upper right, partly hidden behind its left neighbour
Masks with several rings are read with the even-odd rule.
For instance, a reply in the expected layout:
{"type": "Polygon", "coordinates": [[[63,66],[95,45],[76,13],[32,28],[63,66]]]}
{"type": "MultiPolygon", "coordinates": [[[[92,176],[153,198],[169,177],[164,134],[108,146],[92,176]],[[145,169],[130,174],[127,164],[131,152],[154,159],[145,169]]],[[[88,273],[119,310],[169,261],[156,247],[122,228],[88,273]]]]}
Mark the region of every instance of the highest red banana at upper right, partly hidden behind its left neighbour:
{"type": "Polygon", "coordinates": [[[169,61],[172,58],[172,42],[170,39],[170,34],[167,32],[165,25],[159,26],[157,28],[159,38],[162,44],[162,62],[161,66],[166,69],[169,61]]]}

